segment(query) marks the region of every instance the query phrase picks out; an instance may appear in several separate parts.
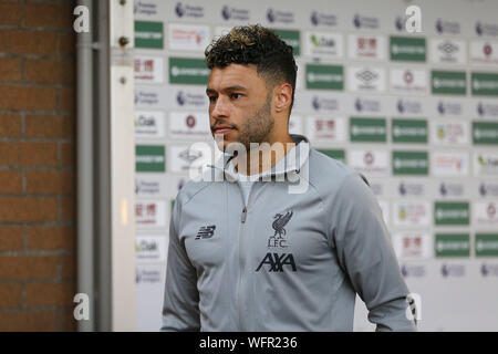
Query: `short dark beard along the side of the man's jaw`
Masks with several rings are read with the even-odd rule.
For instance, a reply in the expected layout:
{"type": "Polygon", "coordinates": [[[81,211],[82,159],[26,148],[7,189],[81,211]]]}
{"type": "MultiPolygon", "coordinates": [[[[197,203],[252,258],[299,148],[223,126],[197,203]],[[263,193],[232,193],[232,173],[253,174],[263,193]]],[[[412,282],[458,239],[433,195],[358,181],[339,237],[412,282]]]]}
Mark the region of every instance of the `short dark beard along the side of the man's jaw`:
{"type": "Polygon", "coordinates": [[[249,116],[240,126],[239,143],[249,152],[251,143],[261,144],[268,140],[268,136],[272,131],[274,119],[271,116],[271,96],[268,96],[261,108],[249,116]]]}

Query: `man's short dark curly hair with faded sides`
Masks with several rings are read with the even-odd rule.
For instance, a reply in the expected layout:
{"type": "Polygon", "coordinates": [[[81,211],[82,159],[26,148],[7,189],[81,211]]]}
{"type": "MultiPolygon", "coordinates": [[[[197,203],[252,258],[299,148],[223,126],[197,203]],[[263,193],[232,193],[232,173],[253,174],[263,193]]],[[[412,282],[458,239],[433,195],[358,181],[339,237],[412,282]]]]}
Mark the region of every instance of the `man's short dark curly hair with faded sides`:
{"type": "Polygon", "coordinates": [[[215,39],[206,49],[206,64],[210,70],[230,64],[255,64],[257,73],[264,77],[269,88],[286,82],[292,86],[294,104],[295,65],[292,46],[274,31],[259,24],[235,27],[226,35],[215,39]]]}

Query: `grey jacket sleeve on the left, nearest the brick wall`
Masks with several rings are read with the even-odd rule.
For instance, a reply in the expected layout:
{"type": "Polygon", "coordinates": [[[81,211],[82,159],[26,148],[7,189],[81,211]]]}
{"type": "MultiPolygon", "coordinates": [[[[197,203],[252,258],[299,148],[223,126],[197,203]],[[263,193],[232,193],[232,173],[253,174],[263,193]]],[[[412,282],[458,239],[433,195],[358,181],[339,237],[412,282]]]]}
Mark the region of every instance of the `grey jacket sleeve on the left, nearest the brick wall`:
{"type": "Polygon", "coordinates": [[[179,196],[176,198],[169,222],[169,246],[166,285],[160,331],[199,331],[199,293],[197,274],[184,244],[179,240],[179,196]]]}

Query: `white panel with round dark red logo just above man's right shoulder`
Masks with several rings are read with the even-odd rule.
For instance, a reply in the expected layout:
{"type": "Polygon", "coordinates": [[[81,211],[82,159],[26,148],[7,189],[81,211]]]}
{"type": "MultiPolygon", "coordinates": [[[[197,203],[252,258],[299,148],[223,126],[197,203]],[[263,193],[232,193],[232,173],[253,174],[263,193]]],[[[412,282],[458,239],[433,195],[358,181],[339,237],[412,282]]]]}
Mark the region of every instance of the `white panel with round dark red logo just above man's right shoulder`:
{"type": "Polygon", "coordinates": [[[347,164],[367,177],[385,176],[390,173],[387,150],[352,149],[347,155],[347,164]]]}

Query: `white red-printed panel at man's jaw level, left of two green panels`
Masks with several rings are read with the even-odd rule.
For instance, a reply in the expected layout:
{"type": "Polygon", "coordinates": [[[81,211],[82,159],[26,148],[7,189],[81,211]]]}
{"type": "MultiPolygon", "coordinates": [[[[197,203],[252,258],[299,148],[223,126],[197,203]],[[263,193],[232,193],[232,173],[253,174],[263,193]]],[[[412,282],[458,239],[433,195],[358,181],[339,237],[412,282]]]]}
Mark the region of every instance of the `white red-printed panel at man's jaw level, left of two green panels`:
{"type": "Polygon", "coordinates": [[[344,142],[346,137],[344,118],[305,117],[309,139],[344,142]]]}

